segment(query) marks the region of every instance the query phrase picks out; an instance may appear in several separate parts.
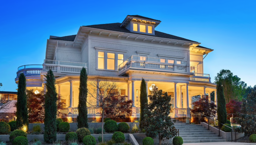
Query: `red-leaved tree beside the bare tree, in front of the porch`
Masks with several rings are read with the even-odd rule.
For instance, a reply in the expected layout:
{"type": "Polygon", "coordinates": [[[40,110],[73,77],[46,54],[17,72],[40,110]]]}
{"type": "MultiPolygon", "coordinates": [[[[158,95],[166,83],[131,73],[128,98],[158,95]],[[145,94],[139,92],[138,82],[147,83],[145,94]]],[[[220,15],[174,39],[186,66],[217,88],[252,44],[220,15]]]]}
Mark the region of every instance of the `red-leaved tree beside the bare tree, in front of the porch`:
{"type": "Polygon", "coordinates": [[[106,101],[105,115],[114,121],[125,119],[132,114],[132,100],[127,96],[113,95],[106,101]]]}

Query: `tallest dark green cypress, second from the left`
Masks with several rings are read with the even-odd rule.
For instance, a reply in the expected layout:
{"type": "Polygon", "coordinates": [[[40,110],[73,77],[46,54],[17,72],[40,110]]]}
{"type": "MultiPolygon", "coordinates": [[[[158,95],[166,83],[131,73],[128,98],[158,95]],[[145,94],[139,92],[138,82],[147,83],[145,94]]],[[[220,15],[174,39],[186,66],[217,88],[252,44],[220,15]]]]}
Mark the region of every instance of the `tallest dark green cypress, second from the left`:
{"type": "Polygon", "coordinates": [[[53,143],[56,141],[56,115],[57,115],[57,92],[55,87],[55,78],[53,71],[49,70],[45,75],[46,89],[45,94],[45,133],[43,138],[46,143],[53,143]]]}

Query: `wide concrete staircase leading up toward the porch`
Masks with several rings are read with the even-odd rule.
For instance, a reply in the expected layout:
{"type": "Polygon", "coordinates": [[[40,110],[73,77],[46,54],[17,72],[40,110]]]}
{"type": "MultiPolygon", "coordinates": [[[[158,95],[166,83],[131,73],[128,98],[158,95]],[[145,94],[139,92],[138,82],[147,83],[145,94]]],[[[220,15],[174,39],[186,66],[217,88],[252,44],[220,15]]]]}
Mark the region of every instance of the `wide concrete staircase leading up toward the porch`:
{"type": "Polygon", "coordinates": [[[226,142],[226,139],[218,137],[214,132],[200,124],[186,124],[182,121],[176,121],[175,128],[179,129],[183,143],[226,142]]]}

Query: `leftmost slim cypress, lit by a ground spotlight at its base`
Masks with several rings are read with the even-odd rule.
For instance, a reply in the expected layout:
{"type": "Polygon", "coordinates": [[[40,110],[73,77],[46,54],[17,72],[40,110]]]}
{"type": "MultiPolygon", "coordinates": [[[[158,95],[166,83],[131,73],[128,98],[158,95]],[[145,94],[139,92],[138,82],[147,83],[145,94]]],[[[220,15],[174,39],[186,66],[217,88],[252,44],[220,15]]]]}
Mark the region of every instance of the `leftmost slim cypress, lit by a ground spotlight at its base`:
{"type": "Polygon", "coordinates": [[[17,93],[17,104],[16,104],[16,125],[17,128],[23,128],[26,131],[28,128],[28,109],[27,109],[27,94],[26,94],[26,77],[23,73],[19,76],[18,82],[18,93],[17,93]]]}

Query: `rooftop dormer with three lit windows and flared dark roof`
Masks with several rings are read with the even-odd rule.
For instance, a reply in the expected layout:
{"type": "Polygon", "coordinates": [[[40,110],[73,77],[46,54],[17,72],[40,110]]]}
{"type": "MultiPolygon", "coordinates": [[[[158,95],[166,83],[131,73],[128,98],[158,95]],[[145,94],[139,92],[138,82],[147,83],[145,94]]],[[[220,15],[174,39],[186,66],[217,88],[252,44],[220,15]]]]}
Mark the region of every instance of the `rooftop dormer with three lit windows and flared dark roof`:
{"type": "Polygon", "coordinates": [[[120,26],[131,32],[155,35],[155,28],[160,23],[161,21],[153,18],[140,15],[127,15],[120,26]]]}

